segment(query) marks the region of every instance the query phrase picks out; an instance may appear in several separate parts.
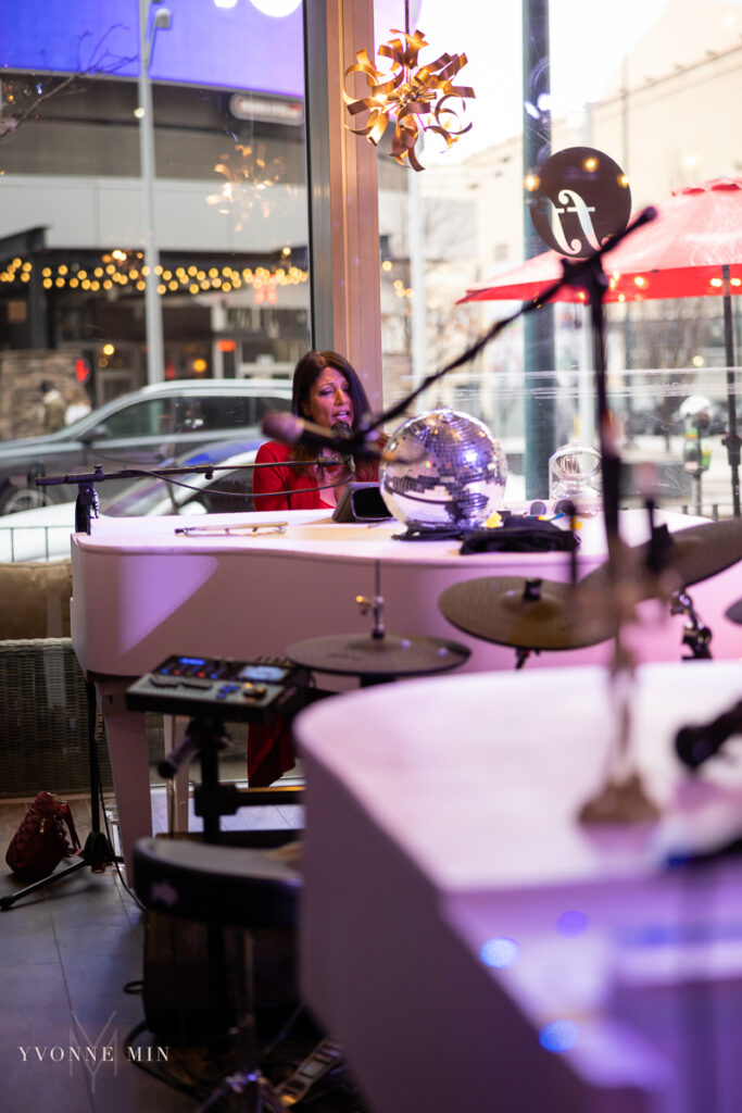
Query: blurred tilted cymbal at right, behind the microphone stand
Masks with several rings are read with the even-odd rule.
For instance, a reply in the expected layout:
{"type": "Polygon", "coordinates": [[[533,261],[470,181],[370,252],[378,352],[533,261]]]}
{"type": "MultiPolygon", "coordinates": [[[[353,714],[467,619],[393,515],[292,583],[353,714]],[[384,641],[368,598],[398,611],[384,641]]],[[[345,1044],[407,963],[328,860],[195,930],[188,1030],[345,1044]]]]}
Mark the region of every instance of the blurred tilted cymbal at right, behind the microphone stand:
{"type": "MultiPolygon", "coordinates": [[[[663,551],[663,568],[675,573],[677,588],[687,588],[712,575],[718,575],[742,560],[742,519],[730,518],[721,522],[702,522],[685,530],[667,534],[670,545],[663,551]]],[[[629,570],[643,599],[656,594],[654,577],[647,569],[650,543],[633,545],[627,550],[629,570]]],[[[601,564],[580,581],[581,589],[600,588],[609,575],[607,563],[601,564]]]]}

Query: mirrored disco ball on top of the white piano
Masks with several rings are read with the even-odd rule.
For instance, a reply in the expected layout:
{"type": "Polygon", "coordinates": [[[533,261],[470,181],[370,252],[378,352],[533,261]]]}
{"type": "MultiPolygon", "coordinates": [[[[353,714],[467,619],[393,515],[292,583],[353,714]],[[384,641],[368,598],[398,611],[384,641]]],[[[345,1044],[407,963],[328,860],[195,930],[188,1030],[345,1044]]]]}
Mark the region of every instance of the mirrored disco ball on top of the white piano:
{"type": "Polygon", "coordinates": [[[502,503],[507,460],[476,417],[431,410],[404,422],[386,452],[382,495],[408,530],[473,529],[502,503]]]}

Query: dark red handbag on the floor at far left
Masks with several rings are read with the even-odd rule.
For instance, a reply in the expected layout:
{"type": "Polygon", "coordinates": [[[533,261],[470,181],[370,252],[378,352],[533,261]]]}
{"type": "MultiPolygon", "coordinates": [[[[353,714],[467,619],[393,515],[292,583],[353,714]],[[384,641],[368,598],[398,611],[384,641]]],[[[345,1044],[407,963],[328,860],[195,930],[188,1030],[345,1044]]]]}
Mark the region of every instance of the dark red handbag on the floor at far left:
{"type": "Polygon", "coordinates": [[[39,792],[10,840],[6,861],[21,881],[40,881],[53,873],[62,858],[79,849],[67,800],[51,792],[39,792]],[[67,840],[68,830],[71,845],[67,840]]]}

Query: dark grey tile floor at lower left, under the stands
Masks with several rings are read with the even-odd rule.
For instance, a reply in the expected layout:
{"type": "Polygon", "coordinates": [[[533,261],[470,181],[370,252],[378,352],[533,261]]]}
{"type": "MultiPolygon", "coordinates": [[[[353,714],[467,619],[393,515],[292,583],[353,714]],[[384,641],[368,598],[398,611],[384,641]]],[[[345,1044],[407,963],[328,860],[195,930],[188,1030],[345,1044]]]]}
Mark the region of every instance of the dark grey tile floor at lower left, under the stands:
{"type": "MultiPolygon", "coordinates": [[[[222,774],[222,779],[225,775],[222,774]]],[[[86,797],[70,797],[78,833],[89,830],[86,797]]],[[[7,847],[28,801],[0,801],[0,846],[7,847]]],[[[243,808],[226,817],[235,828],[298,828],[299,806],[243,808]]],[[[166,829],[165,789],[152,788],[155,830],[166,829]]],[[[190,829],[199,820],[191,816],[190,829]]],[[[4,851],[3,851],[4,855],[4,851]]],[[[0,895],[20,887],[7,867],[0,895]]],[[[65,863],[59,867],[62,869],[65,863]]],[[[0,912],[0,1110],[2,1113],[180,1113],[202,1097],[180,1092],[127,1058],[125,1040],[145,1018],[141,997],[145,914],[115,867],[85,868],[0,912]],[[128,992],[128,987],[135,992],[128,992]],[[95,1062],[70,1061],[70,1046],[92,1046],[95,1062]]],[[[150,1034],[136,1041],[142,1057],[150,1034]]],[[[313,1041],[314,1043],[314,1041],[313,1041]]],[[[172,1050],[168,1053],[172,1056],[172,1050]]],[[[176,1073],[222,1075],[218,1062],[198,1065],[176,1048],[176,1073]]],[[[300,1056],[299,1056],[300,1057],[300,1056]]],[[[171,1065],[171,1063],[169,1063],[171,1065]]],[[[160,1070],[160,1067],[158,1067],[160,1070]]],[[[234,1099],[215,1106],[237,1107],[234,1099]]],[[[298,1109],[299,1106],[297,1106],[298,1109]]],[[[314,1104],[319,1113],[325,1106],[314,1104]]],[[[356,1109],[355,1100],[345,1109],[356,1109]]]]}

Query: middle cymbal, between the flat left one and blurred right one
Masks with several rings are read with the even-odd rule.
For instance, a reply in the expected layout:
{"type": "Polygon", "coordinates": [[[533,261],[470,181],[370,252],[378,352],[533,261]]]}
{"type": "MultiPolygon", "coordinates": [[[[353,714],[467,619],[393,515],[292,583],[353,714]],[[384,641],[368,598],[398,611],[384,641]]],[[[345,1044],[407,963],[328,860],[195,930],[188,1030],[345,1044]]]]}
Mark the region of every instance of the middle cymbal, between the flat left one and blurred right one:
{"type": "Polygon", "coordinates": [[[576,621],[573,592],[551,580],[483,577],[446,588],[438,607],[459,630],[517,649],[582,649],[612,638],[615,623],[607,614],[576,621]]]}

